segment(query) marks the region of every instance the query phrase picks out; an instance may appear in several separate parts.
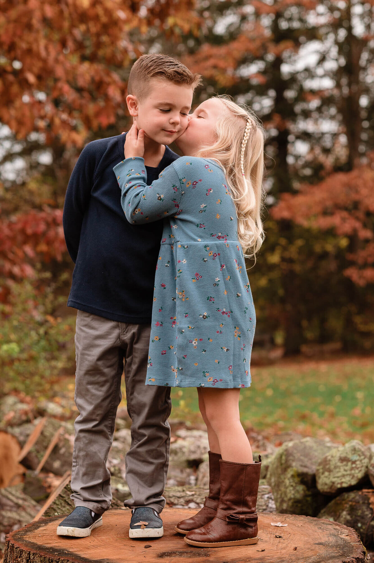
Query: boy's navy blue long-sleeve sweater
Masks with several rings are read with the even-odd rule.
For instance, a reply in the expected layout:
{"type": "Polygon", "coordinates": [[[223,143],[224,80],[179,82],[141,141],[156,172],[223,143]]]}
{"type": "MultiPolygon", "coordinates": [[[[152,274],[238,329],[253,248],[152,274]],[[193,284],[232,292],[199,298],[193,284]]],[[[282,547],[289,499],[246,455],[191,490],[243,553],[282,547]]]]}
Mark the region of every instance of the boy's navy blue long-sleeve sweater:
{"type": "MultiPolygon", "coordinates": [[[[125,135],[88,143],[71,173],[62,219],[75,262],[67,305],[123,323],[150,323],[163,221],[127,221],[113,172],[124,144],[125,135]]],[[[146,166],[148,184],[177,158],[166,146],[159,166],[146,166]]]]}

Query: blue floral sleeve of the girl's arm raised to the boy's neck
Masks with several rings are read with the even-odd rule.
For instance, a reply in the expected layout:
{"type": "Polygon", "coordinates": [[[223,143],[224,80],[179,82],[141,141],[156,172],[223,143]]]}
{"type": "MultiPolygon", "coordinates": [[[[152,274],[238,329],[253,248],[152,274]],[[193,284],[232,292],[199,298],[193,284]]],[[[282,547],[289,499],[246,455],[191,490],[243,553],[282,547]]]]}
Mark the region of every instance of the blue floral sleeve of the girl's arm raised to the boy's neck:
{"type": "Polygon", "coordinates": [[[113,168],[121,188],[121,205],[129,223],[141,225],[180,213],[183,182],[174,163],[166,167],[158,180],[147,186],[142,157],[125,158],[113,168]]]}

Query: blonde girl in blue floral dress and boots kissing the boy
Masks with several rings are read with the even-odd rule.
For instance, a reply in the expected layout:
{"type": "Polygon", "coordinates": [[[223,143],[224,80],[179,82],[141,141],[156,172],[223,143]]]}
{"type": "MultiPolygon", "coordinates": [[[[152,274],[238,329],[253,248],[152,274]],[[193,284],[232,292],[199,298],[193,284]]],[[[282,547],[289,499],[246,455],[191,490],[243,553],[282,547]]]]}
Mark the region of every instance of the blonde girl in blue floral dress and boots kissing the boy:
{"type": "Polygon", "coordinates": [[[152,185],[135,123],[126,158],[113,168],[129,222],[166,218],[146,384],[197,387],[208,428],[209,496],[175,530],[193,546],[254,544],[261,459],[253,461],[238,404],[251,383],[255,310],[244,256],[254,257],[264,239],[264,131],[225,96],[202,102],[188,119],[177,140],[188,157],[152,185]]]}

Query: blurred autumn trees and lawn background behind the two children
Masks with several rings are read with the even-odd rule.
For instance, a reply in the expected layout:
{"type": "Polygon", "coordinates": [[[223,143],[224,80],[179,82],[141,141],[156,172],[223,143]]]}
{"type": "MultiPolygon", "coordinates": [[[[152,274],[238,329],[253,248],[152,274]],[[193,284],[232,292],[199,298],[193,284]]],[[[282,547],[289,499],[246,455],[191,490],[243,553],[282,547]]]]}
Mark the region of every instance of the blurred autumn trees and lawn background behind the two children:
{"type": "MultiPolygon", "coordinates": [[[[247,263],[258,324],[245,426],[374,441],[373,4],[2,1],[6,424],[12,400],[75,416],[66,186],[87,142],[128,129],[133,62],[163,52],[202,74],[195,105],[226,93],[267,132],[266,240],[247,263]]],[[[174,418],[201,422],[194,390],[174,390],[173,404],[174,418]]]]}

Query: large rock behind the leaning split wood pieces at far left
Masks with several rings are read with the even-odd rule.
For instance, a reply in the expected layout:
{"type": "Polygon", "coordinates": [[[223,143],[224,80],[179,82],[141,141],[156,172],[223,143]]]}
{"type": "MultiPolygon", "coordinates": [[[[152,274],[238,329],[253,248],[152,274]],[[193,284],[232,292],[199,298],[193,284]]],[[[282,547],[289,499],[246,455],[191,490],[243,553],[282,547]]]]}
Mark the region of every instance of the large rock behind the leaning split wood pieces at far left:
{"type": "MultiPolygon", "coordinates": [[[[21,426],[8,427],[7,430],[17,438],[21,446],[24,446],[26,440],[34,430],[40,418],[36,418],[33,423],[22,424],[21,426]]],[[[52,436],[56,433],[60,426],[68,428],[65,423],[57,421],[55,418],[49,418],[46,425],[44,425],[42,433],[38,437],[30,452],[22,459],[22,465],[26,468],[35,470],[38,467],[44,453],[46,452],[52,436]]],[[[55,475],[64,475],[65,471],[71,470],[71,462],[73,459],[73,446],[71,444],[70,436],[62,434],[49,455],[46,463],[43,466],[43,471],[51,471],[55,475]]]]}

